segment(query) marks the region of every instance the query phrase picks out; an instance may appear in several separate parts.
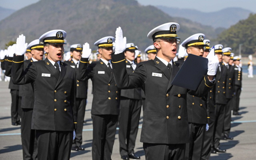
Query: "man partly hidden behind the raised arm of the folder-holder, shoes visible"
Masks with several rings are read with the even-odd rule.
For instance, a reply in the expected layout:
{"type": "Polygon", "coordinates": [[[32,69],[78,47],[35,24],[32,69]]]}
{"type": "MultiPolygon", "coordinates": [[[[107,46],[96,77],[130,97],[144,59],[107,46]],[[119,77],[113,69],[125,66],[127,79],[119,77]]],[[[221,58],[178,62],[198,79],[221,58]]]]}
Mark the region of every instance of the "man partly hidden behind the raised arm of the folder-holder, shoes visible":
{"type": "MultiPolygon", "coordinates": [[[[133,43],[126,44],[124,55],[126,57],[127,74],[132,74],[136,69],[137,64],[134,62],[135,51],[138,50],[133,43]]],[[[134,153],[136,136],[141,111],[141,89],[134,88],[121,90],[120,97],[120,118],[119,118],[119,150],[123,160],[140,159],[134,153]]]]}

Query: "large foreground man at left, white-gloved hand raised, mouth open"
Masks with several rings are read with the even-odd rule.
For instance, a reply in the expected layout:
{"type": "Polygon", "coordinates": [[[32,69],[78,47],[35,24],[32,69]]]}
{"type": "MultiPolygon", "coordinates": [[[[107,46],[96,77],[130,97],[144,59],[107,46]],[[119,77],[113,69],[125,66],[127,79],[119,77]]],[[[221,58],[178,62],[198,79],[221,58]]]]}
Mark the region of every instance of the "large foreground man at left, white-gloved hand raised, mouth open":
{"type": "Polygon", "coordinates": [[[23,34],[17,38],[12,62],[14,84],[32,84],[34,108],[31,129],[36,130],[38,160],[69,160],[75,136],[76,73],[60,62],[64,52],[64,30],[51,30],[39,40],[47,52],[45,60],[32,62],[24,68],[27,44],[23,34]]]}

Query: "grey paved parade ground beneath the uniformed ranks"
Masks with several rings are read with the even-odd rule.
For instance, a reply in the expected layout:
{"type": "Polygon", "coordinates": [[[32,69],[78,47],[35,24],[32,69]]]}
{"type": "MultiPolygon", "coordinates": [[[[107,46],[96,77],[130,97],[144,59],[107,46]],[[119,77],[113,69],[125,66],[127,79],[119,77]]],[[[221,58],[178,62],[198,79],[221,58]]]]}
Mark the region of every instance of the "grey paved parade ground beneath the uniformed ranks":
{"type": "MultiPolygon", "coordinates": [[[[256,78],[243,77],[243,90],[240,100],[240,113],[242,116],[232,117],[231,135],[232,141],[221,141],[221,147],[227,149],[227,153],[212,155],[211,160],[255,160],[256,148],[256,78]]],[[[92,119],[90,109],[92,106],[91,82],[89,82],[88,104],[86,106],[84,124],[83,144],[84,151],[71,153],[71,160],[91,160],[92,150],[92,119]]],[[[8,82],[0,82],[0,160],[21,160],[22,146],[20,138],[20,127],[11,125],[10,118],[11,96],[8,82]]],[[[140,121],[140,127],[142,120],[140,121]]],[[[135,152],[144,160],[144,150],[140,143],[139,129],[135,152]]],[[[112,160],[120,160],[118,131],[112,154],[112,160]]]]}

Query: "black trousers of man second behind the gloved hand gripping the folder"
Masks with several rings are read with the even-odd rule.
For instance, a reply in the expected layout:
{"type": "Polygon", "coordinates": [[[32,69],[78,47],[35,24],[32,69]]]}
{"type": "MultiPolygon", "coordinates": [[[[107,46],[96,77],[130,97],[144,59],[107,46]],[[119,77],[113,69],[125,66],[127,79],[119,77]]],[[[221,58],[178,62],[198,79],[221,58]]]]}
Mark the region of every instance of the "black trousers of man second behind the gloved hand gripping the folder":
{"type": "Polygon", "coordinates": [[[225,106],[222,136],[224,136],[224,134],[229,136],[230,128],[231,128],[231,110],[232,110],[232,99],[227,99],[227,105],[225,106]]]}

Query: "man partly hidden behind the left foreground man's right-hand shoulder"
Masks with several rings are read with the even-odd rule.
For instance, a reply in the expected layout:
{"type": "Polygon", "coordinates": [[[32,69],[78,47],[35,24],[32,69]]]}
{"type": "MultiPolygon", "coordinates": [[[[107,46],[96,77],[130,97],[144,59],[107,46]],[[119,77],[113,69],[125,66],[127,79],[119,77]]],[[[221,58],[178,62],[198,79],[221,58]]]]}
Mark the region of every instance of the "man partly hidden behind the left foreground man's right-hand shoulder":
{"type": "Polygon", "coordinates": [[[77,117],[77,129],[76,129],[76,138],[73,140],[72,150],[84,150],[82,145],[82,132],[84,126],[84,114],[86,108],[86,99],[87,99],[87,89],[88,81],[79,81],[78,68],[80,64],[80,58],[83,48],[80,44],[73,44],[70,46],[70,54],[72,59],[70,61],[65,61],[68,66],[75,68],[76,71],[76,108],[73,108],[74,114],[77,117]]]}

